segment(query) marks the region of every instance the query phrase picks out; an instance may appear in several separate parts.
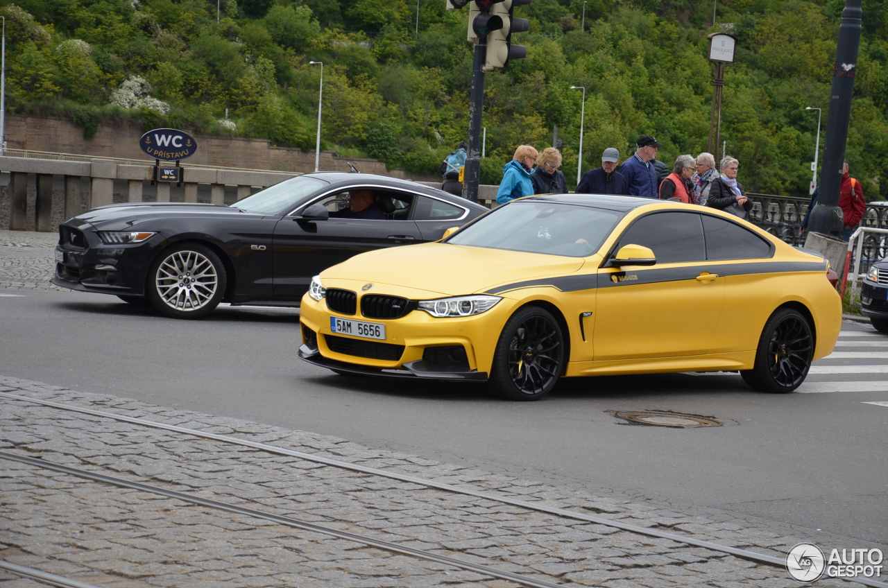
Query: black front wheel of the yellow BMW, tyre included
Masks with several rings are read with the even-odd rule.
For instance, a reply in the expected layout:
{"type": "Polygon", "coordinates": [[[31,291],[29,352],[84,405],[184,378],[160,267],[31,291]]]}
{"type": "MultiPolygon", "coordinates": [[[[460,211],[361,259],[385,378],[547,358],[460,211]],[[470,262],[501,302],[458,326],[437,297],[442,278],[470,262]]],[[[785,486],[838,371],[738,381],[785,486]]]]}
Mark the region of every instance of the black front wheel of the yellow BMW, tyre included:
{"type": "Polygon", "coordinates": [[[491,371],[490,384],[513,401],[535,401],[558,383],[565,362],[561,327],[538,306],[525,306],[503,327],[491,371]]]}

